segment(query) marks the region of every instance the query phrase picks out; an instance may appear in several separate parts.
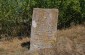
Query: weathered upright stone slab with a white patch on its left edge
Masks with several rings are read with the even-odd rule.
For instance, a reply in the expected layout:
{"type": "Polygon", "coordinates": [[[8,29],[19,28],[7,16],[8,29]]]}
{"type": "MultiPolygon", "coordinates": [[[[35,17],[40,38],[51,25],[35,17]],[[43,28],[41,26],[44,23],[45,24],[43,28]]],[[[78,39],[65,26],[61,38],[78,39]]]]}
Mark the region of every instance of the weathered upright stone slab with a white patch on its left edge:
{"type": "Polygon", "coordinates": [[[34,8],[30,40],[31,51],[55,48],[57,22],[58,9],[34,8]]]}

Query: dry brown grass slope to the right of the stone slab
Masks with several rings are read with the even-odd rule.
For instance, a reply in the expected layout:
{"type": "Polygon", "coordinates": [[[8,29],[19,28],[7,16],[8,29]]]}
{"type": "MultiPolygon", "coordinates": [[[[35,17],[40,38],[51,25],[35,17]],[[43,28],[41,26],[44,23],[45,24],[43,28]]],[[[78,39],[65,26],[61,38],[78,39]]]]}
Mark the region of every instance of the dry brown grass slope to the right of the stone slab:
{"type": "Polygon", "coordinates": [[[85,26],[78,25],[66,30],[60,30],[57,38],[59,53],[67,52],[70,55],[85,55],[85,26]]]}

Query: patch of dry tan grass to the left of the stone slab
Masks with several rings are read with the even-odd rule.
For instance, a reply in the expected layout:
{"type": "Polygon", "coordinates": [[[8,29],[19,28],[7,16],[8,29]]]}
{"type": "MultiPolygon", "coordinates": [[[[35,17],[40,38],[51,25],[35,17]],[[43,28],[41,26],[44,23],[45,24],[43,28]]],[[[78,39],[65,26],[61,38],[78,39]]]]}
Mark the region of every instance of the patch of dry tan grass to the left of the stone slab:
{"type": "Polygon", "coordinates": [[[21,47],[23,42],[29,42],[29,38],[23,38],[22,40],[14,38],[11,42],[0,42],[0,55],[21,55],[24,51],[28,50],[21,47]]]}

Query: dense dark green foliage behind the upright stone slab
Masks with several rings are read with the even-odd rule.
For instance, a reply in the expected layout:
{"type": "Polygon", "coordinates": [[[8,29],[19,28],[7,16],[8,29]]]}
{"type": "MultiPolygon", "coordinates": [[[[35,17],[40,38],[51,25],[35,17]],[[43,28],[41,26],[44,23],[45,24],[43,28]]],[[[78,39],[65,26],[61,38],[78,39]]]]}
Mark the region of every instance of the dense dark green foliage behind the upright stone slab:
{"type": "Polygon", "coordinates": [[[85,22],[85,0],[0,0],[0,35],[29,34],[33,8],[59,9],[59,29],[85,22]]]}

